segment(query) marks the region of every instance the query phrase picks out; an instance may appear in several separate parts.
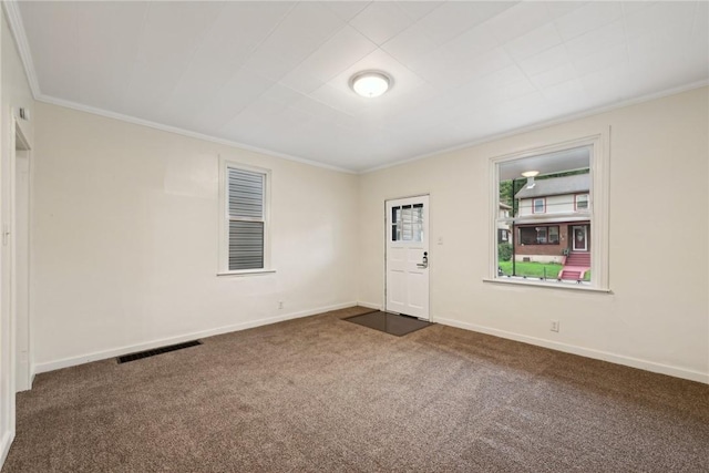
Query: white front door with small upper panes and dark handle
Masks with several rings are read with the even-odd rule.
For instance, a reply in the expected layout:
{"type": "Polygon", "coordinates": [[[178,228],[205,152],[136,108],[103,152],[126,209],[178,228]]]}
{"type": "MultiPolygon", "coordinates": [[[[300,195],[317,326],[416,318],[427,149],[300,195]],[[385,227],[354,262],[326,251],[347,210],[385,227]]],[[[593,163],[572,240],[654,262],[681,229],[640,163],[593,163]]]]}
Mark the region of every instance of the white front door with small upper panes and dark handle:
{"type": "Polygon", "coordinates": [[[387,200],[387,311],[429,320],[429,196],[387,200]]]}

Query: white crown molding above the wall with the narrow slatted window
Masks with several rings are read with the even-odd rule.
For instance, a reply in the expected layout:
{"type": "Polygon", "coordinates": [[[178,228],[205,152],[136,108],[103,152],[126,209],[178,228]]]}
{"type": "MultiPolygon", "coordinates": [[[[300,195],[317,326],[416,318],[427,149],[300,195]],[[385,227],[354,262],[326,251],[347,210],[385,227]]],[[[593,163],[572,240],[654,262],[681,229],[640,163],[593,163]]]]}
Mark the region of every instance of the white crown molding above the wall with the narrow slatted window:
{"type": "Polygon", "coordinates": [[[266,150],[266,148],[258,147],[258,146],[251,146],[251,145],[239,143],[239,142],[235,142],[235,141],[232,141],[232,140],[225,140],[225,138],[219,138],[219,137],[212,136],[212,135],[206,135],[204,133],[192,132],[189,130],[179,128],[177,126],[171,126],[171,125],[165,125],[163,123],[151,122],[150,120],[137,119],[135,116],[124,115],[122,113],[111,112],[111,111],[107,111],[107,110],[97,109],[97,107],[94,107],[94,106],[84,105],[84,104],[81,104],[81,103],[76,103],[76,102],[72,102],[72,101],[68,101],[68,100],[63,100],[63,99],[56,99],[56,97],[53,97],[51,95],[40,94],[39,96],[37,96],[34,99],[38,102],[43,102],[43,103],[49,103],[51,105],[59,105],[59,106],[63,106],[63,107],[66,107],[66,109],[78,110],[80,112],[91,113],[93,115],[105,116],[106,119],[119,120],[119,121],[122,121],[122,122],[132,123],[134,125],[147,126],[150,128],[155,128],[155,130],[160,130],[160,131],[163,131],[163,132],[174,133],[174,134],[187,136],[187,137],[191,137],[191,138],[197,138],[197,140],[203,140],[203,141],[210,142],[210,143],[217,143],[217,144],[222,144],[222,145],[226,145],[226,146],[238,147],[238,148],[245,150],[245,151],[253,151],[255,153],[266,154],[268,156],[279,157],[279,158],[286,160],[286,161],[294,161],[296,163],[307,164],[309,166],[322,167],[322,168],[329,169],[329,171],[337,171],[339,173],[357,174],[357,172],[354,172],[352,169],[348,169],[346,167],[338,167],[338,166],[333,166],[333,165],[330,165],[330,164],[320,163],[318,161],[312,161],[312,160],[308,160],[308,158],[305,158],[305,157],[300,157],[300,156],[294,156],[294,155],[290,155],[290,154],[280,153],[280,152],[273,151],[273,150],[266,150]]]}

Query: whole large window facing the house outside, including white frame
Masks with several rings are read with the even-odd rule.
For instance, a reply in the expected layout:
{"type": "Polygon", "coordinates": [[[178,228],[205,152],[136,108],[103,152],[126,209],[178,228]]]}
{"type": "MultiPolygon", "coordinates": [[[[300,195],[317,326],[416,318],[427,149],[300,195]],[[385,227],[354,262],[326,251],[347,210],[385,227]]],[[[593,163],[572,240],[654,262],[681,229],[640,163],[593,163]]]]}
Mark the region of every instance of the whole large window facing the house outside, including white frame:
{"type": "Polygon", "coordinates": [[[494,266],[486,280],[608,289],[606,143],[599,134],[491,160],[494,266]],[[510,228],[508,241],[500,228],[510,228]]]}

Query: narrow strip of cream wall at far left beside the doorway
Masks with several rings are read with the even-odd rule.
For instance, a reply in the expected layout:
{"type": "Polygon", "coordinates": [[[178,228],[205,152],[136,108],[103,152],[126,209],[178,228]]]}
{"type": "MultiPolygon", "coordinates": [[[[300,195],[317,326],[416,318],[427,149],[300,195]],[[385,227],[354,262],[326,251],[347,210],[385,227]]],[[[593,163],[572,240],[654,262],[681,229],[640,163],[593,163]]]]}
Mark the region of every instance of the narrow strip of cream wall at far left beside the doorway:
{"type": "MultiPolygon", "coordinates": [[[[16,50],[14,41],[2,10],[0,21],[0,196],[2,200],[0,227],[12,220],[12,189],[13,168],[11,156],[13,143],[11,110],[24,107],[33,114],[33,99],[24,69],[16,50]]],[[[32,144],[32,122],[20,122],[22,133],[32,144]]],[[[10,317],[10,267],[11,246],[0,246],[0,465],[4,461],[10,443],[14,436],[14,323],[10,317]]]]}

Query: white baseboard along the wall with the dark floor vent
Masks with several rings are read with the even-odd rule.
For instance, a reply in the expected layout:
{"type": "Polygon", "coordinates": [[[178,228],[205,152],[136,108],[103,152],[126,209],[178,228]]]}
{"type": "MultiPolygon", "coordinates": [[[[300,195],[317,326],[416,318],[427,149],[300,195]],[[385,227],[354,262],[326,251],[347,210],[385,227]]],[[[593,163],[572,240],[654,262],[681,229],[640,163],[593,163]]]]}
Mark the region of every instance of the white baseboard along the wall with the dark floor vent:
{"type": "MultiPolygon", "coordinates": [[[[89,363],[91,361],[105,360],[107,358],[121,357],[123,354],[135,353],[136,351],[151,350],[157,347],[164,347],[167,345],[182,343],[184,341],[195,340],[198,338],[213,337],[215,335],[228,333],[233,331],[246,330],[254,327],[266,326],[269,323],[281,322],[284,320],[298,319],[301,317],[315,316],[317,313],[327,312],[330,310],[345,309],[347,307],[357,306],[357,302],[343,302],[333,306],[318,307],[316,309],[301,310],[299,312],[290,312],[282,316],[269,317],[266,319],[249,320],[246,322],[235,323],[225,327],[218,327],[209,330],[202,330],[192,333],[185,333],[177,337],[163,338],[145,343],[137,343],[127,347],[114,348],[111,350],[96,351],[89,354],[82,354],[79,357],[63,358],[61,360],[47,361],[43,363],[34,364],[33,374],[44,373],[48,371],[54,371],[62,368],[75,367],[78,364],[89,363]]],[[[32,381],[34,377],[32,377],[32,381]]]]}

